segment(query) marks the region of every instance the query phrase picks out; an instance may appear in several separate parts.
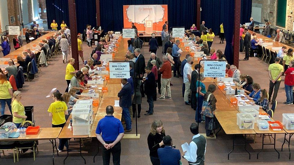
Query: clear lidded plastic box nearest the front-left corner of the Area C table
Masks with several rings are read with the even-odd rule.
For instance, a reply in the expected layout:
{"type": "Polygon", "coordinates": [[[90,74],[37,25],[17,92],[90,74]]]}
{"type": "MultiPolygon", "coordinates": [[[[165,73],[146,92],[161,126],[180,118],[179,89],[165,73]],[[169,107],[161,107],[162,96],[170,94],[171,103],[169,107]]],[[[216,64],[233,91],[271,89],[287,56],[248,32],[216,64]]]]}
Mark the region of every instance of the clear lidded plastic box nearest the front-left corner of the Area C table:
{"type": "Polygon", "coordinates": [[[255,118],[249,113],[237,113],[237,125],[240,130],[253,130],[255,118]]]}

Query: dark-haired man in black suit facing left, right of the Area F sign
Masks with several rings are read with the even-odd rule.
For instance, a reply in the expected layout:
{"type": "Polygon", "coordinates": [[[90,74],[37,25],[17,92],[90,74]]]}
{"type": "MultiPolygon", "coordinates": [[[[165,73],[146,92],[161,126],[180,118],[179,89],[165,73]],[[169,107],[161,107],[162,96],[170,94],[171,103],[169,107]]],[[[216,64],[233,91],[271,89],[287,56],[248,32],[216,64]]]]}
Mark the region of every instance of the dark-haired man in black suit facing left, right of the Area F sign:
{"type": "Polygon", "coordinates": [[[155,75],[151,72],[150,67],[145,67],[145,72],[147,73],[147,77],[143,78],[145,84],[145,94],[147,96],[147,102],[149,104],[149,110],[145,115],[153,115],[153,96],[156,94],[156,82],[155,75]]]}

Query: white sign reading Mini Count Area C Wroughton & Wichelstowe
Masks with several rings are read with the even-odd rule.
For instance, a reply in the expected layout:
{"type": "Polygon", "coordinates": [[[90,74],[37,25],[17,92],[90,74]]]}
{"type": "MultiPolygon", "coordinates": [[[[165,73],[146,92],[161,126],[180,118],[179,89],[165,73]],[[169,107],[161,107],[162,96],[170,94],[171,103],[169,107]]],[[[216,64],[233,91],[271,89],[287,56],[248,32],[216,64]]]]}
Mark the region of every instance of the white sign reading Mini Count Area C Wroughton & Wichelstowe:
{"type": "Polygon", "coordinates": [[[205,61],[204,77],[226,77],[226,62],[205,61]]]}

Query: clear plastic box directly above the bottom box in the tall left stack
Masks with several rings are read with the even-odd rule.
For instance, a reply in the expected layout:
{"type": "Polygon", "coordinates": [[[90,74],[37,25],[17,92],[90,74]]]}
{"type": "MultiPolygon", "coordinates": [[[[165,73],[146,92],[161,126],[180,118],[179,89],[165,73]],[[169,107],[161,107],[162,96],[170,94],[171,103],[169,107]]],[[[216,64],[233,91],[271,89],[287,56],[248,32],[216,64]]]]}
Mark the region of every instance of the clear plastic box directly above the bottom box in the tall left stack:
{"type": "Polygon", "coordinates": [[[92,120],[92,115],[90,114],[90,111],[91,111],[90,109],[77,109],[77,108],[74,109],[73,108],[73,111],[71,112],[73,123],[74,124],[90,123],[92,120]]]}

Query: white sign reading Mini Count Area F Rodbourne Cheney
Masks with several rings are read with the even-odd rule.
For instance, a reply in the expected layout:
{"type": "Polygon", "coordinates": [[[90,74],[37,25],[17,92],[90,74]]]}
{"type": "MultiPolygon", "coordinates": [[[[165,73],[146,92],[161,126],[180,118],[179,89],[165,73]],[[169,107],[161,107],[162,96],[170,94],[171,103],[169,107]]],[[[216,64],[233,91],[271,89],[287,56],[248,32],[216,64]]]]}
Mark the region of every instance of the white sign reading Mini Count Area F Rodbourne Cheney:
{"type": "Polygon", "coordinates": [[[129,63],[109,63],[110,78],[130,78],[129,63]]]}

